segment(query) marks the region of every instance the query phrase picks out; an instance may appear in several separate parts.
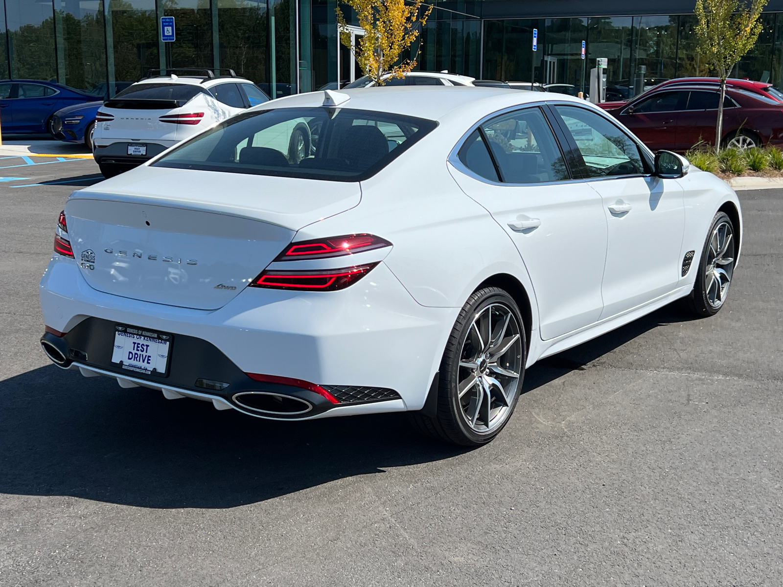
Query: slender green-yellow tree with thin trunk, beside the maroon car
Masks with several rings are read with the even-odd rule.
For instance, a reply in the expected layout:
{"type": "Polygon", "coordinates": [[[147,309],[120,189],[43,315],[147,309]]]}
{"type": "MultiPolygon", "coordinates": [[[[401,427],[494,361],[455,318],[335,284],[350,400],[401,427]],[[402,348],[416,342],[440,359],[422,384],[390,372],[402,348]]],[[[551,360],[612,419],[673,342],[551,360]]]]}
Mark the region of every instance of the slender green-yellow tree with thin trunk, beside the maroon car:
{"type": "Polygon", "coordinates": [[[745,53],[756,45],[763,26],[761,11],[769,0],[696,0],[694,13],[698,19],[696,35],[698,51],[720,77],[720,102],[715,127],[715,149],[720,150],[723,136],[723,99],[726,97],[726,78],[745,53]]]}

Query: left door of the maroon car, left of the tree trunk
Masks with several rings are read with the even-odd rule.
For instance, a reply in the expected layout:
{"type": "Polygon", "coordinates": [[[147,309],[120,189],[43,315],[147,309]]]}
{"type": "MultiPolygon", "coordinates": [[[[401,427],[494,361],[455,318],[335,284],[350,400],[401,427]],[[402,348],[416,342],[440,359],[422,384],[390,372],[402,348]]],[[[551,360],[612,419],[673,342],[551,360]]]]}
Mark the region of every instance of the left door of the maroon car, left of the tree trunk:
{"type": "Polygon", "coordinates": [[[677,120],[687,95],[687,90],[657,92],[621,110],[617,119],[650,149],[676,149],[677,120]]]}

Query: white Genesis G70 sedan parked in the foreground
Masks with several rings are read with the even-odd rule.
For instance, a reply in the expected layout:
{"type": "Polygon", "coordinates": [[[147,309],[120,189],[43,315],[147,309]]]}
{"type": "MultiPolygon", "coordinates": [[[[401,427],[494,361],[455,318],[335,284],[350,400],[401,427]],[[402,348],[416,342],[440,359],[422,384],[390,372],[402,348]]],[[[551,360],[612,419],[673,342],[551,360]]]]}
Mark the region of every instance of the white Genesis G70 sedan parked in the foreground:
{"type": "Polygon", "coordinates": [[[480,445],[539,358],[680,298],[720,311],[741,236],[723,181],[584,100],[312,92],[71,194],[41,344],[169,399],[480,445]]]}

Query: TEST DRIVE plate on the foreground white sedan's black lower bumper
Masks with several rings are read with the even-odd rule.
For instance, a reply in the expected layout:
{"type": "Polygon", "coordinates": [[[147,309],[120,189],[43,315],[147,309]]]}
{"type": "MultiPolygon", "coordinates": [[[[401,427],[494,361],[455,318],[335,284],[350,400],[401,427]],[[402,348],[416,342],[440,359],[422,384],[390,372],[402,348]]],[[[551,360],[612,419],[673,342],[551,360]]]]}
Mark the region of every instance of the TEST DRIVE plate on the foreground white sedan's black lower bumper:
{"type": "Polygon", "coordinates": [[[117,324],[114,330],[111,362],[122,369],[147,375],[165,375],[168,372],[171,334],[121,324],[117,324]]]}

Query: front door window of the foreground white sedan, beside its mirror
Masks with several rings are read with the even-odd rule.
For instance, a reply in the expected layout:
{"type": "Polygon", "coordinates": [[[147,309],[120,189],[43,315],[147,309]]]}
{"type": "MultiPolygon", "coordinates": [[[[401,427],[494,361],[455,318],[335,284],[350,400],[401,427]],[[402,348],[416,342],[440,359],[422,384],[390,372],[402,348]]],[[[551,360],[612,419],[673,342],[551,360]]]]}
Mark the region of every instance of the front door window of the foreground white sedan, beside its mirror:
{"type": "Polygon", "coordinates": [[[582,153],[588,177],[644,174],[639,147],[610,121],[577,106],[555,108],[582,153]]]}

